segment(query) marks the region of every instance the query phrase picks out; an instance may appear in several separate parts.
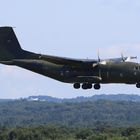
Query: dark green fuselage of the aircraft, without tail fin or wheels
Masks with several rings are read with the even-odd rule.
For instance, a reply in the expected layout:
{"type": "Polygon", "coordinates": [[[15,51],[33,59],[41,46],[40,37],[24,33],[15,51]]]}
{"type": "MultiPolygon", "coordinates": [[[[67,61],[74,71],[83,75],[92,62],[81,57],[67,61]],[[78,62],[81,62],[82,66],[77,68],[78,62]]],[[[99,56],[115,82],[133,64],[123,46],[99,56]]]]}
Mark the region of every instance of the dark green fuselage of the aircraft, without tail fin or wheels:
{"type": "Polygon", "coordinates": [[[11,65],[71,84],[136,84],[140,82],[140,64],[138,63],[108,61],[105,64],[99,63],[97,66],[93,64],[90,62],[87,65],[69,66],[51,63],[41,58],[40,60],[15,59],[11,62],[11,65]]]}

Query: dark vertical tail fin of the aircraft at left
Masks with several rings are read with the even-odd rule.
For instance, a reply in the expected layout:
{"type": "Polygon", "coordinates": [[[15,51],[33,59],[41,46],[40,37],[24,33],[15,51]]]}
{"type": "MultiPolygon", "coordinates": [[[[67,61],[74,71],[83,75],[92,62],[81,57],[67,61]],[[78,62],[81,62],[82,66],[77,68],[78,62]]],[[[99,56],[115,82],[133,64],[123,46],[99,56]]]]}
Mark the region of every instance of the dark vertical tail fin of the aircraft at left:
{"type": "Polygon", "coordinates": [[[0,27],[0,61],[20,58],[23,50],[12,27],[0,27]]]}

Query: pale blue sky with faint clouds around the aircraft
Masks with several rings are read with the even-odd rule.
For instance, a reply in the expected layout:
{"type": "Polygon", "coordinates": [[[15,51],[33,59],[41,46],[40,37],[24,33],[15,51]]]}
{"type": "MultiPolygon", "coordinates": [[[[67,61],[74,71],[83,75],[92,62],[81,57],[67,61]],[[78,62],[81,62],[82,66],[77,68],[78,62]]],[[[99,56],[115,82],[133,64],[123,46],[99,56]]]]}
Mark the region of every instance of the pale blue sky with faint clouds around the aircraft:
{"type": "MultiPolygon", "coordinates": [[[[140,56],[139,0],[0,0],[0,26],[14,26],[22,48],[72,58],[140,56]]],[[[140,61],[138,59],[137,61],[140,61]]],[[[139,94],[133,85],[74,90],[30,71],[0,65],[0,98],[139,94]]]]}

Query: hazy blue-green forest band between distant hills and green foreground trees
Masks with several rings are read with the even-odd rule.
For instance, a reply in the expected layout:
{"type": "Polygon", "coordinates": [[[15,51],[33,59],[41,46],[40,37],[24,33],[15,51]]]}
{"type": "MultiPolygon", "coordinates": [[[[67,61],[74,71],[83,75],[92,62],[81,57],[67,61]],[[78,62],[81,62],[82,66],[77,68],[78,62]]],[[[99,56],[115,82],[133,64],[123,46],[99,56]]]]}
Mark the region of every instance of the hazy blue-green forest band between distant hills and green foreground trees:
{"type": "Polygon", "coordinates": [[[140,102],[95,101],[0,103],[0,126],[59,124],[68,126],[140,125],[140,102]]]}

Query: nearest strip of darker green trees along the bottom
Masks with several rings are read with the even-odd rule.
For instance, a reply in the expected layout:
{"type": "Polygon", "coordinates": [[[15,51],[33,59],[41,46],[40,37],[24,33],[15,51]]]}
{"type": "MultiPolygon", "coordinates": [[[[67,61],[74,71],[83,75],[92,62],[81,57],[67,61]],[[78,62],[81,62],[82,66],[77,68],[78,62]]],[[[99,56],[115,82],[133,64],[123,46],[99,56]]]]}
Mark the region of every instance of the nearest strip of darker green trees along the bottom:
{"type": "Polygon", "coordinates": [[[139,140],[140,127],[37,126],[0,128],[0,140],[139,140]]]}

